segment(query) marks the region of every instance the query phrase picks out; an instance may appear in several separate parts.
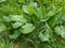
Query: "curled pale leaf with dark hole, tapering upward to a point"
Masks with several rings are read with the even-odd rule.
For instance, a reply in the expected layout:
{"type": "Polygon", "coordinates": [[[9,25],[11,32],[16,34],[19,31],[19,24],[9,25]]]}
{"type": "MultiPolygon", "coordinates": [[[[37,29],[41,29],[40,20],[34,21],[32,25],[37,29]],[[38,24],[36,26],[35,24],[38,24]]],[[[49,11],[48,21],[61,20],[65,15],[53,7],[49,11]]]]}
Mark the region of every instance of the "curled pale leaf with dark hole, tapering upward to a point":
{"type": "Polygon", "coordinates": [[[44,31],[39,33],[39,38],[41,42],[48,42],[49,38],[51,38],[51,36],[52,36],[52,30],[48,26],[48,23],[46,23],[44,31]]]}

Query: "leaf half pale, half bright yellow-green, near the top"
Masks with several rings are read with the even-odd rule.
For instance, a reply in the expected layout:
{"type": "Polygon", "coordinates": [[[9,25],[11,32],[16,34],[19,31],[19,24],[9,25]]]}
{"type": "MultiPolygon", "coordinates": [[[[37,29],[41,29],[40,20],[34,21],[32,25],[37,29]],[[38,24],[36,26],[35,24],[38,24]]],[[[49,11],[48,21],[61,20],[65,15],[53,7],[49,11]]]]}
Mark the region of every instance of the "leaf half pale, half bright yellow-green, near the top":
{"type": "Polygon", "coordinates": [[[35,14],[35,15],[37,15],[37,10],[31,5],[23,5],[23,11],[26,14],[35,14]]]}

